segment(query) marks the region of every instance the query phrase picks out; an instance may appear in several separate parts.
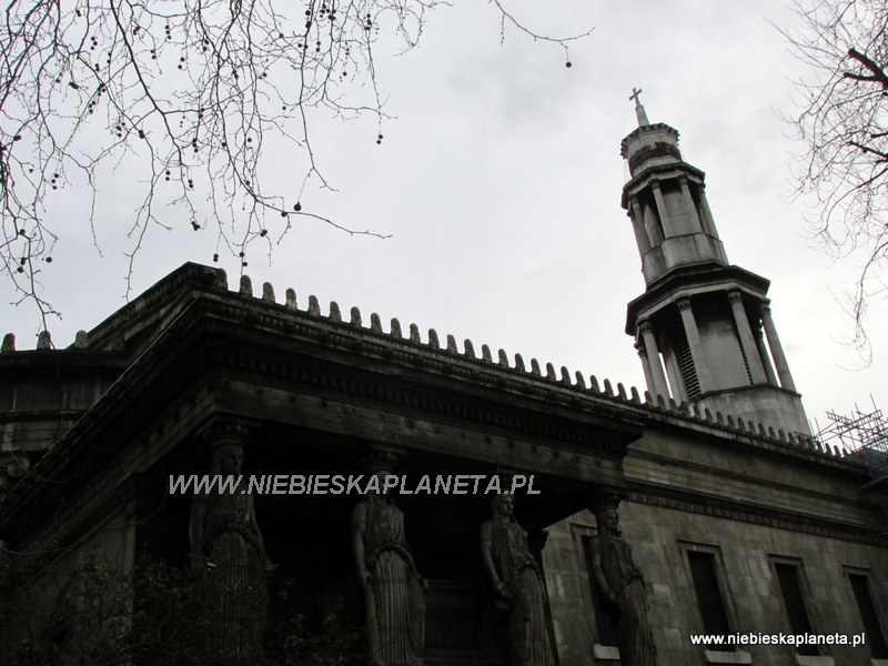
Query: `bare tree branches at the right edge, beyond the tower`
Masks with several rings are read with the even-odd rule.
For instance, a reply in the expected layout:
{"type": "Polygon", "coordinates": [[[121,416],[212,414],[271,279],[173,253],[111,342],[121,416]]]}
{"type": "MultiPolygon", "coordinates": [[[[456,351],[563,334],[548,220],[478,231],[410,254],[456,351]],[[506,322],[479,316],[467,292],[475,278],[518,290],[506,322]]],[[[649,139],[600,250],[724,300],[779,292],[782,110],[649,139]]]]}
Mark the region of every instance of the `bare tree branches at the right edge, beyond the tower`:
{"type": "Polygon", "coordinates": [[[783,32],[810,72],[791,118],[805,145],[797,192],[816,198],[823,248],[862,256],[850,312],[868,359],[867,302],[888,293],[888,3],[797,0],[795,11],[800,29],[783,32]]]}

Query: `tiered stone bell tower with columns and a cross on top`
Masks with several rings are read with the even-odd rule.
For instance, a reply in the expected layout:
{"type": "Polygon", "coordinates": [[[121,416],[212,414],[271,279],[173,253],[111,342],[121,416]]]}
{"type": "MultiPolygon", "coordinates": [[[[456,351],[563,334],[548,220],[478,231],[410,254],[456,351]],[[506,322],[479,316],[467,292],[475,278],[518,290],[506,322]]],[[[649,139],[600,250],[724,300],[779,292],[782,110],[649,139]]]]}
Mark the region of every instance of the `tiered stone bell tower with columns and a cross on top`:
{"type": "Polygon", "coordinates": [[[645,293],[632,301],[652,395],[787,432],[810,434],[766,294],[769,282],[728,263],[706,201],[705,174],[682,159],[678,132],[650,123],[633,89],[638,128],[620,154],[623,208],[642,256],[645,293]]]}

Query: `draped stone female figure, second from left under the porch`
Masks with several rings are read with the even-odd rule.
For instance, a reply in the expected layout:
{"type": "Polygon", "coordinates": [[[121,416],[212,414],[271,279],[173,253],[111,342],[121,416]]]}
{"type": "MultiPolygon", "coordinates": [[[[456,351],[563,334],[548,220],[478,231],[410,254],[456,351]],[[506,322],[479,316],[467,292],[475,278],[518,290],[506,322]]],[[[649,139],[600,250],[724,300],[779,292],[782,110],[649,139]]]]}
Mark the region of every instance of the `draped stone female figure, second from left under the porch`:
{"type": "Polygon", "coordinates": [[[364,589],[366,629],[375,666],[421,666],[425,639],[425,589],[404,536],[404,514],[385,494],[365,495],[352,513],[352,546],[364,589]]]}

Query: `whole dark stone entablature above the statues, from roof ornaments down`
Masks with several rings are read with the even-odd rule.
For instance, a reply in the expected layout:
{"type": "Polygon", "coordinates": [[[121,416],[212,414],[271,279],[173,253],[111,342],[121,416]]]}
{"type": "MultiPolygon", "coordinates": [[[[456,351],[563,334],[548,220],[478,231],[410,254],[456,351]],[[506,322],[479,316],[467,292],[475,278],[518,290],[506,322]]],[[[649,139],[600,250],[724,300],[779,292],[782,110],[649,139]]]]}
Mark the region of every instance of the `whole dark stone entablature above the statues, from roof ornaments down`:
{"type": "MultiPolygon", "coordinates": [[[[180,271],[191,279],[161,282],[147,294],[169,322],[159,334],[150,334],[151,326],[145,322],[155,321],[161,314],[139,306],[138,300],[133,307],[128,306],[125,316],[114,315],[97,327],[103,331],[102,335],[90,334],[94,341],[118,341],[102,343],[105,349],[117,350],[107,357],[115,359],[118,371],[122,357],[133,361],[40,461],[40,475],[36,478],[63,476],[74,456],[80,480],[97,474],[111,460],[120,461],[115,475],[127,475],[127,470],[139,466],[139,460],[148,460],[144,452],[151,442],[172,442],[171,433],[190,427],[183,422],[200,422],[210,413],[208,410],[253,404],[242,397],[250,394],[261,396],[255,404],[271,401],[281,405],[280,413],[284,415],[284,405],[310,410],[319,418],[323,418],[323,411],[353,414],[354,428],[342,426],[346,428],[343,434],[351,432],[350,436],[361,436],[366,427],[362,424],[387,418],[386,427],[413,433],[411,437],[420,448],[425,446],[423,437],[452,437],[454,453],[480,455],[478,460],[487,460],[487,464],[506,455],[523,461],[528,468],[538,466],[577,480],[609,478],[607,483],[617,486],[622,483],[618,467],[597,467],[596,472],[594,460],[617,464],[625,455],[627,441],[642,432],[662,430],[704,438],[714,448],[746,452],[750,457],[777,456],[787,465],[813,466],[823,472],[831,468],[859,478],[861,484],[866,481],[866,468],[858,461],[844,457],[844,452],[825,450],[811,438],[780,428],[677,405],[647,392],[643,397],[634,387],[627,392],[622,384],[614,390],[608,380],[599,385],[592,376],[587,383],[582,374],[572,376],[566,369],[556,373],[552,364],[543,371],[536,360],[528,369],[521,355],[516,354],[513,361],[501,350],[494,356],[486,345],[478,355],[471,341],[461,352],[453,336],[446,336],[442,344],[437,333],[430,330],[423,340],[415,324],[407,327],[410,333],[405,336],[397,320],[392,321],[386,333],[375,314],[365,326],[357,309],[351,309],[349,321],[343,321],[335,303],[331,304],[330,314],[323,315],[313,296],[307,299],[307,310],[299,310],[292,290],[284,304],[271,300],[270,289],[264,290],[264,299],[253,297],[244,290],[231,292],[223,286],[221,271],[195,265],[180,271]],[[194,353],[194,345],[208,334],[215,342],[204,352],[194,353]],[[122,342],[129,346],[121,346],[122,342]],[[189,349],[192,351],[184,351],[189,349]],[[185,356],[179,359],[176,354],[181,352],[176,350],[184,351],[185,356]],[[345,373],[346,365],[362,371],[345,373]],[[398,370],[392,372],[395,367],[398,370]],[[219,376],[222,369],[228,369],[224,373],[230,379],[219,376]],[[382,374],[376,375],[377,371],[382,374]],[[202,377],[201,386],[191,385],[196,376],[202,377]],[[392,383],[386,376],[396,381],[392,383]],[[151,393],[138,394],[140,386],[149,384],[154,385],[151,393]],[[405,386],[436,389],[427,393],[405,386]],[[125,422],[114,424],[114,414],[125,410],[137,394],[139,408],[125,422]],[[180,408],[163,416],[171,396],[180,394],[192,396],[183,406],[185,411],[180,408]],[[316,402],[306,402],[309,396],[315,396],[312,400],[316,402]],[[421,421],[413,423],[416,418],[421,421]],[[103,431],[95,430],[99,425],[103,431]],[[425,434],[416,438],[417,433],[425,434]],[[97,450],[91,441],[101,441],[101,447],[97,450]],[[142,442],[142,458],[124,453],[124,447],[135,442],[142,442]],[[463,444],[456,444],[460,442],[463,444]],[[482,451],[490,454],[480,454],[482,451]]],[[[40,352],[59,354],[60,359],[72,353],[40,352]]],[[[90,354],[102,357],[104,352],[90,349],[77,353],[85,359],[90,354]]],[[[7,360],[0,362],[22,367],[27,367],[29,356],[38,357],[29,352],[4,355],[7,360]]],[[[262,412],[245,415],[256,417],[262,412]]],[[[430,440],[427,446],[434,448],[437,444],[430,440]]],[[[14,484],[0,502],[0,523],[14,522],[13,515],[40,497],[41,488],[43,485],[33,480],[14,484]]]]}

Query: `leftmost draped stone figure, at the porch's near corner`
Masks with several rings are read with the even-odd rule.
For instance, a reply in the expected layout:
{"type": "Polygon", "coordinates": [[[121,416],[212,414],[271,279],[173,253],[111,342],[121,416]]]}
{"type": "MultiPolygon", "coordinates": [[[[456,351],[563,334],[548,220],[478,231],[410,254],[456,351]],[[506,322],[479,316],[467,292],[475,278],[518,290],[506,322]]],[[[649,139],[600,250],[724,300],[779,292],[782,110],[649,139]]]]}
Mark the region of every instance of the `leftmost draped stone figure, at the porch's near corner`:
{"type": "MultiPolygon", "coordinates": [[[[241,474],[245,430],[214,431],[212,475],[241,474]]],[[[220,664],[246,664],[262,653],[268,607],[265,546],[253,496],[213,488],[191,508],[192,561],[212,566],[208,592],[209,650],[220,664]]]]}

